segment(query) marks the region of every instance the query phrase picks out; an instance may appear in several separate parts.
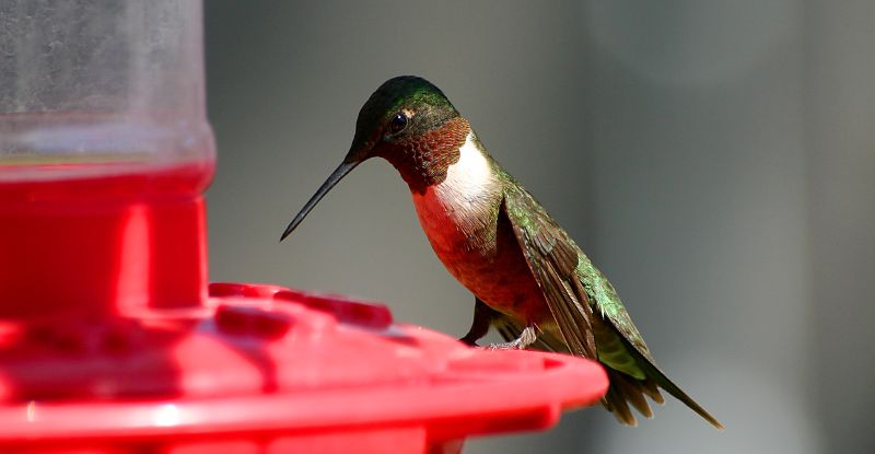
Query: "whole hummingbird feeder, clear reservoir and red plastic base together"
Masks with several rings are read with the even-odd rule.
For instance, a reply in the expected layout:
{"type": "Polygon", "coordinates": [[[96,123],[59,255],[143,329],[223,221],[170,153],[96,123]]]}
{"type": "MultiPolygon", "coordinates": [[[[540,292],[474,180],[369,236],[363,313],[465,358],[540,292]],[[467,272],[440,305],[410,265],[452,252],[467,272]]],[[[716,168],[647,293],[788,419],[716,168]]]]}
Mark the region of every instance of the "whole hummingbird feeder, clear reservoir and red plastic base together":
{"type": "Polygon", "coordinates": [[[382,305],[208,288],[200,2],[2,8],[0,452],[454,453],[605,393],[382,305]]]}

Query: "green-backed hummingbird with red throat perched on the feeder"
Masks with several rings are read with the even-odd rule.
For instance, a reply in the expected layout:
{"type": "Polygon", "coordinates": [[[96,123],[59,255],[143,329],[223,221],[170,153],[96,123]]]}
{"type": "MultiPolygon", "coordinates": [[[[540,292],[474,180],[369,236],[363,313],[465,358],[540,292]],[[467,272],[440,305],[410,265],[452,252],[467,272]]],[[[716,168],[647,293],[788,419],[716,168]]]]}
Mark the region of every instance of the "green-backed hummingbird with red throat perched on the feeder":
{"type": "Polygon", "coordinates": [[[599,361],[610,379],[602,404],[622,423],[635,424],[628,404],[652,417],[644,396],[662,404],[662,387],[723,428],[656,366],[610,282],[424,79],[394,78],[371,95],[349,153],[281,240],[343,176],[375,156],[401,174],[434,253],[475,295],[474,322],[460,340],[474,346],[494,327],[508,342],[493,347],[599,361]]]}

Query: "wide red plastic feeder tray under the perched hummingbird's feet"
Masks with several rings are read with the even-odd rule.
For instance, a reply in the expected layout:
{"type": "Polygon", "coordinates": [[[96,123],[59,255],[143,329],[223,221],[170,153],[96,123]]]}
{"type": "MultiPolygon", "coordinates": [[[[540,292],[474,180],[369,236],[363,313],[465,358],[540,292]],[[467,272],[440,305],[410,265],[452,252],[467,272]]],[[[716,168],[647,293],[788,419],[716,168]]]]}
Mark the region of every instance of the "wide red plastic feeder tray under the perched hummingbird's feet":
{"type": "Polygon", "coordinates": [[[210,293],[202,310],[143,313],[137,348],[127,353],[44,350],[21,360],[55,361],[54,385],[68,386],[62,399],[40,397],[48,383],[28,388],[26,374],[10,374],[25,364],[5,349],[0,443],[375,428],[416,428],[446,441],[545,429],[607,389],[591,361],[471,349],[394,324],[382,305],[276,286],[217,283],[210,293]],[[74,374],[62,371],[71,354],[74,374]],[[163,372],[150,371],[162,364],[163,372]],[[168,382],[144,391],[130,383],[137,370],[168,382]]]}

